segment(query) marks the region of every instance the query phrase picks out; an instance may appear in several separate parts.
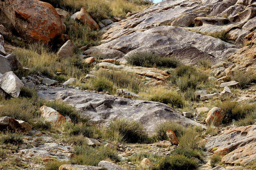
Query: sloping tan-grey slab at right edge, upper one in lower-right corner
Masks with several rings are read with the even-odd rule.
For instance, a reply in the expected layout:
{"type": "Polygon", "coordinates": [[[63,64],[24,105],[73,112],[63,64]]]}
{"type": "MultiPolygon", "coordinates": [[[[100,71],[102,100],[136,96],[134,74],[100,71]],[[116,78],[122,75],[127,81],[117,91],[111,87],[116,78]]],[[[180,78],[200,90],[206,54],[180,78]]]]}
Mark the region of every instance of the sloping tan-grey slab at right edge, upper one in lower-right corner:
{"type": "MultiPolygon", "coordinates": [[[[250,147],[250,144],[255,143],[256,125],[242,126],[235,129],[230,129],[220,133],[215,137],[205,139],[205,147],[208,151],[225,155],[232,154],[234,150],[243,146],[250,147]]],[[[254,148],[255,149],[255,148],[254,148]]],[[[235,153],[235,152],[234,152],[235,153]]],[[[239,154],[236,152],[236,154],[239,154]]],[[[246,154],[245,152],[243,154],[246,154]]],[[[240,157],[243,158],[243,157],[240,157]]],[[[237,157],[237,159],[240,159],[237,157]]],[[[226,161],[232,161],[231,155],[228,155],[226,161]],[[228,160],[229,159],[229,160],[228,160]]],[[[234,161],[234,160],[233,160],[234,161]]],[[[228,163],[228,162],[227,162],[228,163]]]]}

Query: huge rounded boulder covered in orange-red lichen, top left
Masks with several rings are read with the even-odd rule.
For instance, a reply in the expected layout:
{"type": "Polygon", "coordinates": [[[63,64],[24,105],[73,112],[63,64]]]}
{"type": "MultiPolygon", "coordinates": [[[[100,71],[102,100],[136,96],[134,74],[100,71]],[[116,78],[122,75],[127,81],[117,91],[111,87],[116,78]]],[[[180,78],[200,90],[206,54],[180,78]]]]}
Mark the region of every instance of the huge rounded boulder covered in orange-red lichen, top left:
{"type": "Polygon", "coordinates": [[[38,0],[6,0],[0,8],[26,41],[52,43],[62,34],[62,22],[51,4],[38,0]]]}

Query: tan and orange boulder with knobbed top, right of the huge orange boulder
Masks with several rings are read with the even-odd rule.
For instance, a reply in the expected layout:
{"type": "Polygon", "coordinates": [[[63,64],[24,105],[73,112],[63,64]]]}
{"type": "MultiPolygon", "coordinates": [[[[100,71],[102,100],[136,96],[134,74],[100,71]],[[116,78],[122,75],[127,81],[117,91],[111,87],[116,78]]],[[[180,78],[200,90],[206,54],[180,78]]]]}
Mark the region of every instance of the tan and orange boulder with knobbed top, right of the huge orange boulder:
{"type": "Polygon", "coordinates": [[[76,14],[76,19],[81,21],[84,25],[88,25],[93,30],[99,28],[99,25],[92,19],[86,8],[81,8],[80,12],[76,14]]]}

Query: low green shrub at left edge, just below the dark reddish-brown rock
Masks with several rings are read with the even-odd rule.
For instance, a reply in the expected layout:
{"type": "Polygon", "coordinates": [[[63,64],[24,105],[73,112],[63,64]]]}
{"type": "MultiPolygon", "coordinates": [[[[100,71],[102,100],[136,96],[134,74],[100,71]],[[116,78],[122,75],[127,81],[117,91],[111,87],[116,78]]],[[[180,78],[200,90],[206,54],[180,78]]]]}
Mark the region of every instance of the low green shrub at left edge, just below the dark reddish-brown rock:
{"type": "Polygon", "coordinates": [[[11,130],[4,130],[0,132],[0,143],[4,144],[21,144],[25,134],[20,130],[11,131],[11,130]]]}

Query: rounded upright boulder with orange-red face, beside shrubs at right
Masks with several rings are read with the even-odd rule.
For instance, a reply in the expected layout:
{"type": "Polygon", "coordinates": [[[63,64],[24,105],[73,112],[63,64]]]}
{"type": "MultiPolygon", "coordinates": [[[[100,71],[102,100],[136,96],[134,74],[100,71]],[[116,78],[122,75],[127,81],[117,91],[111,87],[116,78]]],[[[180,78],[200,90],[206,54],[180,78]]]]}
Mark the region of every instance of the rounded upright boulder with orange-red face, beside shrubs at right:
{"type": "Polygon", "coordinates": [[[225,113],[219,107],[213,107],[207,114],[205,122],[210,125],[219,125],[224,117],[225,113]]]}

